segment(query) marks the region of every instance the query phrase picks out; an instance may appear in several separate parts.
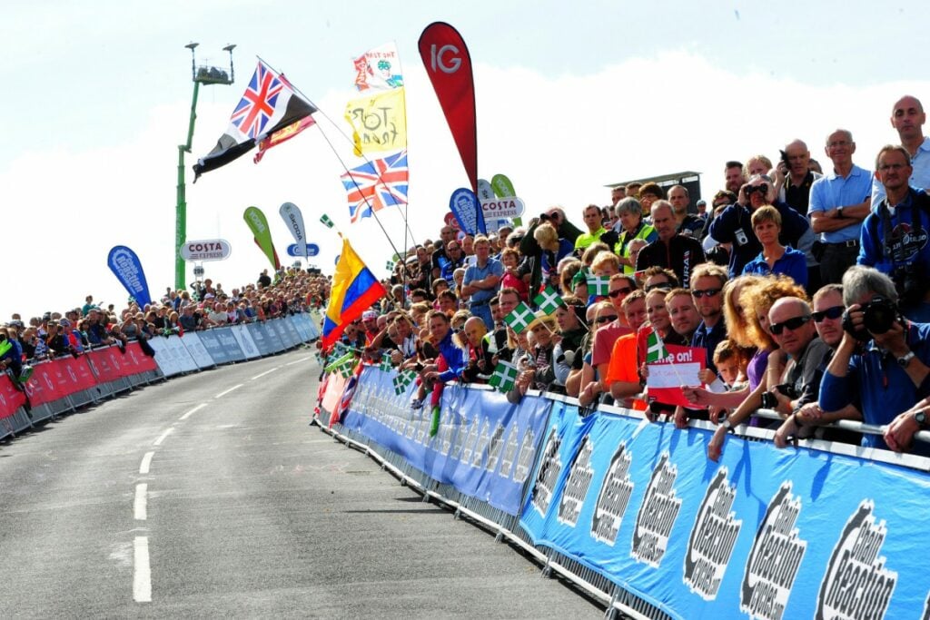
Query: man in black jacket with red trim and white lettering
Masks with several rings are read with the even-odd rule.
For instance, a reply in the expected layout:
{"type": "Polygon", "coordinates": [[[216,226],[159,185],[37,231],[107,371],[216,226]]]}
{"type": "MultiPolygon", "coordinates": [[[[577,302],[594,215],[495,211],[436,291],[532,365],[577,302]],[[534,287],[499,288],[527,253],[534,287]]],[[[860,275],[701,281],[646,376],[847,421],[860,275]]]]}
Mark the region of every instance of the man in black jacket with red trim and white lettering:
{"type": "Polygon", "coordinates": [[[636,257],[636,270],[655,266],[671,269],[678,281],[687,287],[691,271],[704,262],[704,248],[697,239],[685,237],[677,231],[674,210],[666,200],[658,200],[652,205],[652,225],[658,239],[640,250],[636,257]]]}

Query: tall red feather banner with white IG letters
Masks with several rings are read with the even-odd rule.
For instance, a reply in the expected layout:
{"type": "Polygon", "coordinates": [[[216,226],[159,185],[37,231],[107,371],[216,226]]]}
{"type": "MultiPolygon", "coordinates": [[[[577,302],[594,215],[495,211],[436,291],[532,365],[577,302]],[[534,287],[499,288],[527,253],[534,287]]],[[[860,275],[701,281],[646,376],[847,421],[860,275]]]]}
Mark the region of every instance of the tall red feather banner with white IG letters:
{"type": "Polygon", "coordinates": [[[456,140],[472,191],[478,191],[478,134],[474,116],[472,57],[458,31],[434,21],[419,35],[419,56],[426,66],[436,99],[456,140]]]}

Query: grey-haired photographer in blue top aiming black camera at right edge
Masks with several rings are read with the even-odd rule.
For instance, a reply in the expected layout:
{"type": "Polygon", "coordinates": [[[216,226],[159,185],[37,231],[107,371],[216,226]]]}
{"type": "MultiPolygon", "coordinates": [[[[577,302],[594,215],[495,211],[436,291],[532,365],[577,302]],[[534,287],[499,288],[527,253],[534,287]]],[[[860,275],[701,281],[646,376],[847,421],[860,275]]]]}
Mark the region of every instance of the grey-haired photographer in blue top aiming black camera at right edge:
{"type": "MultiPolygon", "coordinates": [[[[838,412],[857,398],[866,424],[888,424],[930,394],[930,324],[905,319],[897,309],[895,283],[870,267],[846,271],[843,300],[843,340],[820,383],[820,408],[838,412]]],[[[880,435],[870,434],[863,435],[862,445],[906,447],[886,446],[880,435]]],[[[921,444],[917,452],[930,455],[930,445],[921,444]]]]}

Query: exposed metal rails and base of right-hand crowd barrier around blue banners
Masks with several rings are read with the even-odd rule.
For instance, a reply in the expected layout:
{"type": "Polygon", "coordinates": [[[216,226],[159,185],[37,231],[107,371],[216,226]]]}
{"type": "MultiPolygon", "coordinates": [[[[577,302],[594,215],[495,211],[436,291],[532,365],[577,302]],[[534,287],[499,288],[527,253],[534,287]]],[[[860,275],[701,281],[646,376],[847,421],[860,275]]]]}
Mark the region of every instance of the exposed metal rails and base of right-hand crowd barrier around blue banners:
{"type": "MultiPolygon", "coordinates": [[[[476,389],[486,388],[477,387],[476,389]]],[[[533,392],[530,392],[530,394],[532,395],[533,392]]],[[[544,396],[549,399],[553,405],[555,402],[565,402],[575,406],[578,405],[577,399],[562,395],[547,393],[544,394],[544,396]]],[[[360,403],[360,405],[365,411],[368,411],[368,408],[372,407],[377,410],[379,406],[387,406],[383,401],[372,397],[369,397],[364,403],[360,403]]],[[[353,400],[350,408],[354,411],[355,407],[356,402],[353,400]]],[[[550,409],[550,412],[551,411],[552,408],[550,409]]],[[[644,420],[644,416],[639,412],[633,412],[615,406],[601,405],[598,407],[598,411],[644,420]]],[[[480,523],[485,529],[495,534],[495,539],[497,541],[507,540],[512,545],[520,547],[526,554],[541,565],[542,576],[559,574],[592,598],[600,600],[602,604],[604,604],[607,617],[615,617],[617,613],[624,613],[635,618],[658,620],[672,617],[657,605],[631,591],[631,589],[615,583],[615,581],[608,578],[605,574],[566,556],[552,547],[534,545],[533,539],[520,523],[521,515],[518,514],[514,516],[504,512],[503,510],[491,506],[479,497],[461,493],[452,484],[432,479],[429,474],[407,462],[403,455],[393,452],[390,448],[373,441],[361,432],[345,428],[342,424],[339,424],[339,422],[331,426],[327,425],[326,420],[329,419],[330,413],[331,412],[326,411],[325,407],[321,408],[320,415],[314,416],[312,423],[318,425],[321,430],[331,435],[336,441],[344,442],[347,448],[354,447],[374,458],[379,462],[382,468],[390,470],[402,484],[410,486],[419,494],[423,495],[423,501],[435,500],[437,503],[453,510],[456,519],[462,516],[467,517],[472,521],[480,523]]],[[[772,420],[781,419],[776,412],[771,410],[759,410],[756,412],[756,416],[772,420]]],[[[644,424],[646,423],[643,421],[640,426],[642,427],[644,424]]],[[[658,425],[653,424],[646,426],[658,425]]],[[[716,428],[714,425],[711,425],[710,422],[699,420],[690,421],[689,426],[694,429],[710,431],[716,428]]],[[[851,430],[858,433],[883,433],[883,427],[867,425],[850,420],[841,420],[832,425],[825,425],[824,428],[851,430]]],[[[735,429],[734,434],[737,437],[751,442],[771,442],[775,431],[773,429],[740,425],[735,429]]],[[[915,440],[921,442],[930,441],[930,432],[921,431],[915,436],[915,440]]],[[[865,448],[859,445],[840,442],[829,442],[817,438],[800,440],[799,445],[812,450],[836,455],[849,455],[873,461],[891,463],[896,466],[903,466],[922,472],[930,470],[930,459],[919,455],[901,455],[887,450],[865,448]]],[[[533,467],[531,469],[532,472],[538,471],[543,457],[543,450],[538,449],[534,457],[533,467]]],[[[525,481],[522,505],[525,505],[530,498],[532,482],[532,476],[525,481]]],[[[930,601],[930,599],[928,599],[928,601],[930,601]]],[[[930,602],[928,602],[928,605],[930,605],[930,602]]]]}

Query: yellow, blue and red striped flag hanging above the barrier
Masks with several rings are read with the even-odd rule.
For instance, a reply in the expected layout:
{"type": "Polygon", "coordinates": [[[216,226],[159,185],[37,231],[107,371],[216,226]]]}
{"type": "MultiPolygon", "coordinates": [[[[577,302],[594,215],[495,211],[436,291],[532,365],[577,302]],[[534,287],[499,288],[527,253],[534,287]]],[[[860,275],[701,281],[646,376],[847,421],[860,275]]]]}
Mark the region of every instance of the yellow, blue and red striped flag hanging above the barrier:
{"type": "Polygon", "coordinates": [[[375,274],[355,254],[349,240],[343,239],[323,321],[323,348],[336,342],[347,324],[362,316],[362,312],[386,294],[375,274]]]}

